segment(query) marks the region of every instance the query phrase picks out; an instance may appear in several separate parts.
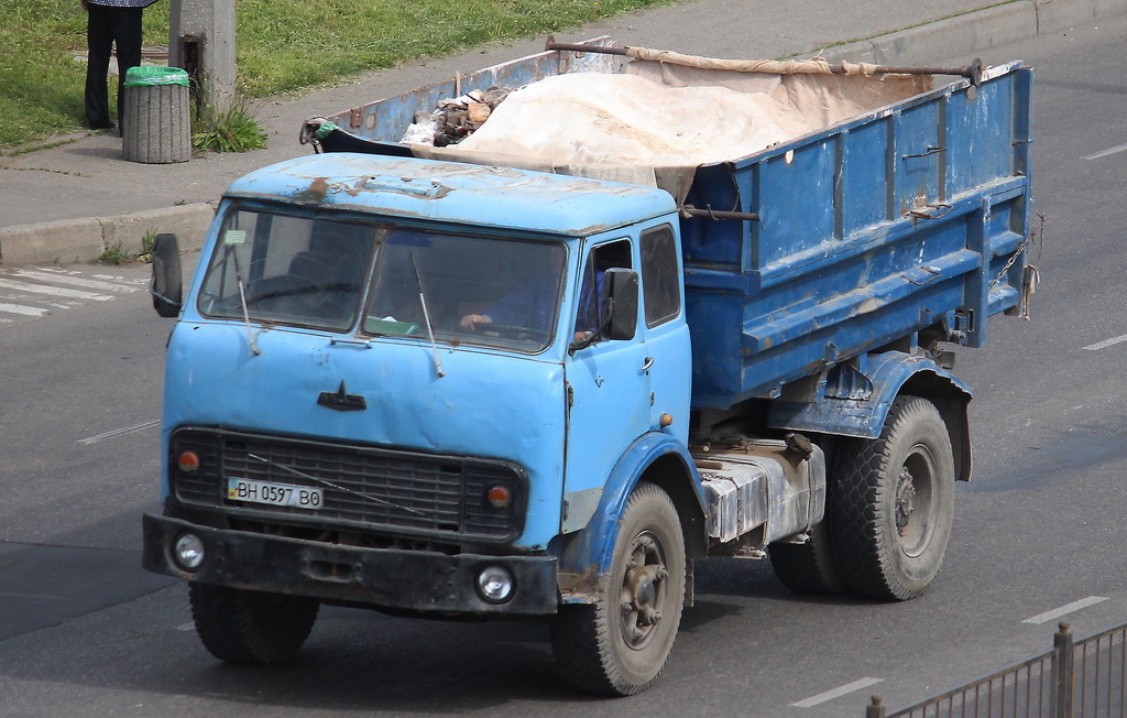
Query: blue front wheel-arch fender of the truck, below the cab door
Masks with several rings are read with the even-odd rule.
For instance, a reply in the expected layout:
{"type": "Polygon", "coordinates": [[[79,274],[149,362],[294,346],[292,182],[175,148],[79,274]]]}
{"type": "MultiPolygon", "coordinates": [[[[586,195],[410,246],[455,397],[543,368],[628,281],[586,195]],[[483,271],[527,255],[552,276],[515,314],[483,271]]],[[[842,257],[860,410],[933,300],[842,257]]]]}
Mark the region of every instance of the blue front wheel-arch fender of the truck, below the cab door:
{"type": "MultiPolygon", "coordinates": [[[[598,507],[587,525],[560,537],[559,578],[565,603],[589,603],[602,590],[619,535],[619,520],[640,481],[656,484],[673,499],[689,558],[704,555],[708,548],[704,494],[693,459],[668,434],[649,432],[635,440],[611,469],[598,507]]],[[[691,596],[687,585],[685,593],[691,596]]]]}

